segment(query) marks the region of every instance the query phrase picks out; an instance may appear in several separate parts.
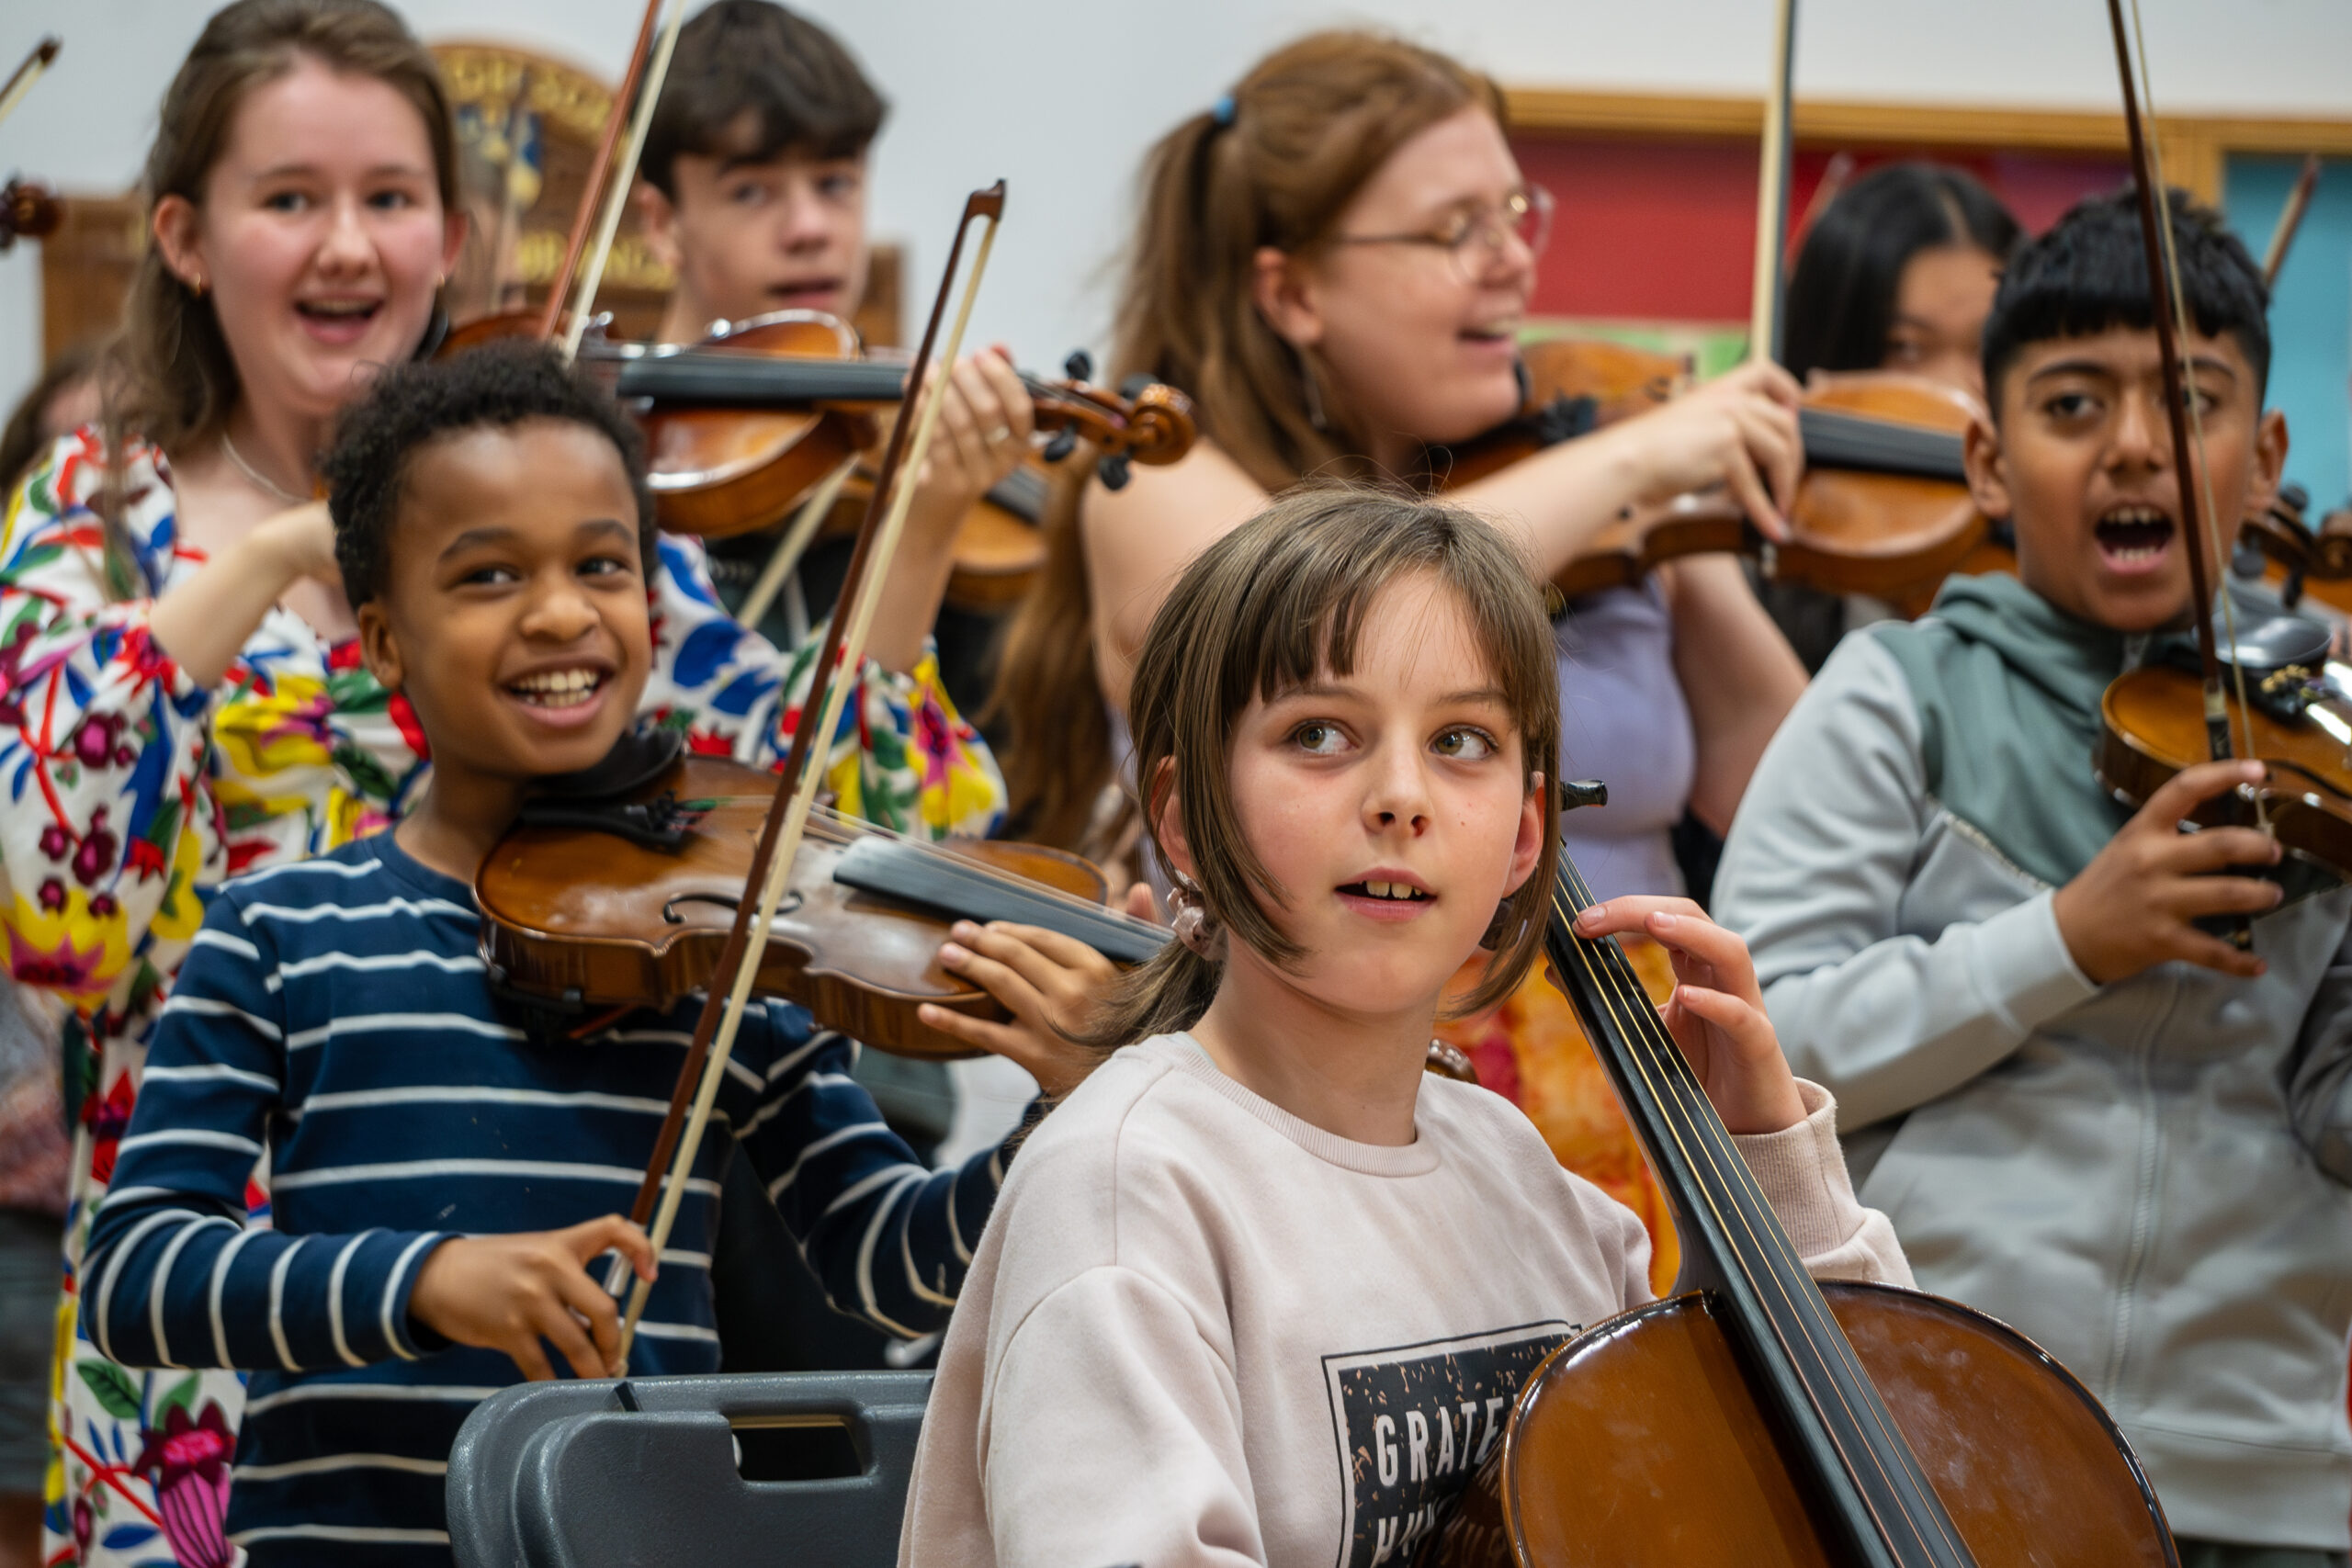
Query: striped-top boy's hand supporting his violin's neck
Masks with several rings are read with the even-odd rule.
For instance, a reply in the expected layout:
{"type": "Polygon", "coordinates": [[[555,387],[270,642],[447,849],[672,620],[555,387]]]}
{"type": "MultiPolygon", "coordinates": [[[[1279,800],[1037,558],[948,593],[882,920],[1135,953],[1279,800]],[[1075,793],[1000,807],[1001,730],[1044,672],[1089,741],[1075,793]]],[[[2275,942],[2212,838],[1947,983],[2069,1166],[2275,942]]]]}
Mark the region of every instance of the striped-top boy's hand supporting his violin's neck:
{"type": "MultiPolygon", "coordinates": [[[[1129,889],[1127,912],[1160,919],[1150,886],[1138,882],[1129,889]]],[[[1014,1020],[967,1018],[924,1001],[917,1013],[922,1023],[1018,1063],[1047,1098],[1058,1100],[1084,1084],[1103,1053],[1068,1039],[1063,1030],[1077,1034],[1087,1027],[1096,1004],[1117,983],[1120,966],[1073,936],[1007,919],[985,926],[960,919],[950,936],[955,940],[938,950],[941,969],[985,990],[1014,1020]]]]}

